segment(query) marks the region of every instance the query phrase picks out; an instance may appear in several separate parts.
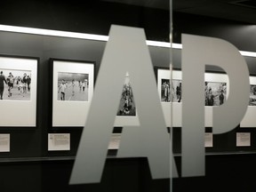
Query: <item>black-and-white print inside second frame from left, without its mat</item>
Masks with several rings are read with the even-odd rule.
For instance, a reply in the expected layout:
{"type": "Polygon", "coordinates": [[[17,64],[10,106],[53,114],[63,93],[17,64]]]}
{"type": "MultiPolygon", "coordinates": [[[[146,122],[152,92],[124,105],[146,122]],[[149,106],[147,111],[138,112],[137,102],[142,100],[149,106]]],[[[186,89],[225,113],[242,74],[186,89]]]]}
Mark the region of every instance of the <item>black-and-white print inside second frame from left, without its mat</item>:
{"type": "Polygon", "coordinates": [[[89,74],[58,73],[58,100],[88,101],[89,74]]]}

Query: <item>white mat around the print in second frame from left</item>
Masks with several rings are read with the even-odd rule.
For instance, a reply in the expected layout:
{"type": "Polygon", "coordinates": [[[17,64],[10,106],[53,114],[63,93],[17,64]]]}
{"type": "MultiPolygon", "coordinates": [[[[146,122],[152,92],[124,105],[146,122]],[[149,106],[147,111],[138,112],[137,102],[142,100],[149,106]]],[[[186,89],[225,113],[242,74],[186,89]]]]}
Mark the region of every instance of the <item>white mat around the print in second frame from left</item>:
{"type": "Polygon", "coordinates": [[[84,127],[94,89],[94,63],[52,59],[52,68],[52,127],[84,127]],[[88,101],[58,100],[59,72],[89,74],[88,101]]]}

